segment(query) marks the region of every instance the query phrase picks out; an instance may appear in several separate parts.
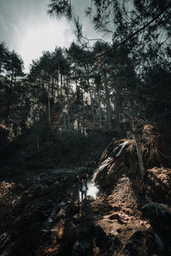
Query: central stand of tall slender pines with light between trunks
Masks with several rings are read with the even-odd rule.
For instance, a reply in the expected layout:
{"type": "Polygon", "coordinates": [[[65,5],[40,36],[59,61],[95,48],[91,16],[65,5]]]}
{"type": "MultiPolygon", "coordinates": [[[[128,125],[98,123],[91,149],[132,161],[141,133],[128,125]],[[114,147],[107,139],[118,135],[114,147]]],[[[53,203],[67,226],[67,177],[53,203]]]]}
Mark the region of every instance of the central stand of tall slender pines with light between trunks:
{"type": "Polygon", "coordinates": [[[97,42],[87,51],[73,43],[68,50],[46,51],[32,63],[28,77],[46,94],[50,126],[85,134],[90,128],[114,129],[121,121],[114,70],[108,62],[114,57],[93,58],[106,47],[97,42]]]}

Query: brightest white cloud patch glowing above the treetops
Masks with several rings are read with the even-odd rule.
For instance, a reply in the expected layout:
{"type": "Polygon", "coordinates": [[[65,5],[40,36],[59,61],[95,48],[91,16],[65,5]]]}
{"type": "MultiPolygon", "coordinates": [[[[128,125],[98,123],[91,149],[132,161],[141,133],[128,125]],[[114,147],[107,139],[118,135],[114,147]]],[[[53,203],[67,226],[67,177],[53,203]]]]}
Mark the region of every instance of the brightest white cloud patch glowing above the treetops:
{"type": "Polygon", "coordinates": [[[74,35],[68,27],[67,21],[54,22],[50,19],[27,27],[18,49],[25,60],[27,71],[32,59],[40,57],[42,51],[54,51],[56,46],[68,47],[71,44],[74,35]]]}

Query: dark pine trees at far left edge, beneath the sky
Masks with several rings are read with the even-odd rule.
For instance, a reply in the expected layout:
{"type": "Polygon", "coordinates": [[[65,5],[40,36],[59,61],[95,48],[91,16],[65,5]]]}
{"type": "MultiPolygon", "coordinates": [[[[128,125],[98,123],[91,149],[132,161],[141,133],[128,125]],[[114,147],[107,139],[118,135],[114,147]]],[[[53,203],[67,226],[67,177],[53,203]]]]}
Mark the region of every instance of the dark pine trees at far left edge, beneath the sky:
{"type": "Polygon", "coordinates": [[[25,110],[23,100],[26,94],[21,80],[24,77],[23,60],[9,51],[4,42],[0,44],[0,124],[9,131],[13,140],[21,126],[26,125],[21,113],[25,110]],[[20,123],[20,125],[18,125],[20,123]]]}

